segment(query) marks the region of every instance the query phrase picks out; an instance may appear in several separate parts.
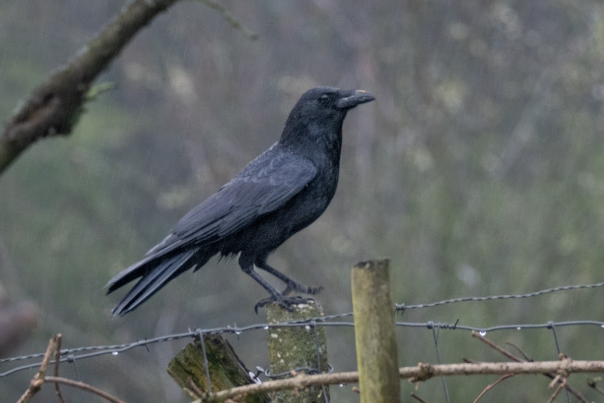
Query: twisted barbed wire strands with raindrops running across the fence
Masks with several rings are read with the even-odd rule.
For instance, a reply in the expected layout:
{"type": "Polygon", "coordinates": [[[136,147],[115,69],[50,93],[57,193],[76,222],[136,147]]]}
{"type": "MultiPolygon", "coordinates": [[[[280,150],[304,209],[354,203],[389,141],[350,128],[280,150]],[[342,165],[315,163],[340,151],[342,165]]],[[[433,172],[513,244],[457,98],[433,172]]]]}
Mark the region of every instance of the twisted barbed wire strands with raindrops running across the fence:
{"type": "MultiPolygon", "coordinates": [[[[426,304],[417,305],[405,305],[395,304],[395,308],[399,312],[404,312],[406,309],[417,309],[417,308],[432,308],[434,306],[446,305],[449,303],[467,302],[467,301],[489,301],[489,300],[501,300],[501,299],[512,299],[512,298],[529,298],[536,297],[538,295],[549,294],[556,291],[569,291],[573,289],[590,289],[604,286],[604,282],[587,285],[570,285],[560,286],[556,288],[544,289],[541,291],[531,292],[528,294],[510,294],[510,295],[490,295],[487,297],[464,297],[464,298],[451,298],[449,300],[442,300],[426,304]]],[[[59,362],[74,363],[76,360],[92,358],[101,355],[118,355],[119,353],[126,352],[127,350],[135,347],[149,346],[155,343],[164,343],[167,341],[181,340],[183,338],[199,338],[200,334],[203,335],[215,335],[215,334],[236,334],[240,335],[243,332],[251,330],[268,330],[274,327],[307,327],[311,330],[315,326],[347,326],[354,327],[355,324],[352,321],[336,321],[337,319],[352,317],[352,312],[344,312],[341,314],[324,315],[322,317],[315,317],[306,320],[289,321],[283,323],[256,323],[248,326],[222,326],[212,327],[209,329],[189,329],[187,332],[164,335],[154,338],[145,338],[143,340],[137,340],[130,343],[123,344],[111,344],[106,346],[85,346],[75,347],[72,349],[60,350],[59,362]]],[[[604,328],[604,321],[596,320],[570,320],[570,321],[548,321],[546,323],[521,323],[521,324],[500,324],[490,327],[471,326],[467,324],[460,324],[459,321],[455,323],[446,322],[406,322],[397,321],[396,326],[399,327],[425,327],[426,329],[447,329],[447,330],[475,330],[480,335],[486,335],[487,332],[493,332],[496,330],[524,330],[524,329],[555,329],[555,327],[565,326],[600,326],[604,328]]],[[[24,361],[27,359],[34,359],[43,356],[44,353],[33,353],[28,355],[13,356],[9,358],[0,359],[0,364],[13,363],[16,361],[24,361]]],[[[54,360],[51,361],[54,363],[54,360]]],[[[13,367],[5,372],[0,372],[0,379],[12,375],[16,372],[23,370],[33,369],[40,366],[41,363],[30,363],[18,367],[13,367]]]]}

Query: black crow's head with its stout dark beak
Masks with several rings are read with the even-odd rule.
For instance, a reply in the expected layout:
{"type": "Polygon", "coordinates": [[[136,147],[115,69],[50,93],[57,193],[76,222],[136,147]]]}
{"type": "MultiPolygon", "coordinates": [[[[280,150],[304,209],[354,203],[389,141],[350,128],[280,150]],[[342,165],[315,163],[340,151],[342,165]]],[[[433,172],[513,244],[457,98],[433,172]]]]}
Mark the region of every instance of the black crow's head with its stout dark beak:
{"type": "Polygon", "coordinates": [[[342,122],[346,112],[365,102],[373,101],[375,97],[361,89],[344,90],[333,87],[315,87],[304,92],[294,109],[289,114],[285,124],[281,142],[303,141],[316,136],[315,140],[336,141],[341,137],[342,122]],[[306,130],[305,130],[306,129],[306,130]],[[307,137],[310,135],[310,138],[307,137]]]}

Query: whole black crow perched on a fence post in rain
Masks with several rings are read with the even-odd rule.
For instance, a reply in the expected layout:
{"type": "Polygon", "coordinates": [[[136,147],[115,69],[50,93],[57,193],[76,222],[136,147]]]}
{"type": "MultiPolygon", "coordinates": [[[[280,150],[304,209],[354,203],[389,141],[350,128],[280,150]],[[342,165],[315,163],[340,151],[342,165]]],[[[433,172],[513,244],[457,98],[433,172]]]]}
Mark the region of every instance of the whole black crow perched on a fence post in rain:
{"type": "Polygon", "coordinates": [[[327,208],[338,185],[342,123],[346,112],[374,100],[366,91],[316,87],[304,92],[285,123],[277,143],[249,163],[230,182],[189,211],[143,260],[121,271],[109,292],[138,279],[113,309],[124,315],[137,308],[170,280],[210,257],[240,253],[239,266],[271,297],[289,308],[289,292],[315,294],[266,263],[268,254],[327,208]],[[286,284],[278,292],[254,271],[254,265],[286,284]]]}

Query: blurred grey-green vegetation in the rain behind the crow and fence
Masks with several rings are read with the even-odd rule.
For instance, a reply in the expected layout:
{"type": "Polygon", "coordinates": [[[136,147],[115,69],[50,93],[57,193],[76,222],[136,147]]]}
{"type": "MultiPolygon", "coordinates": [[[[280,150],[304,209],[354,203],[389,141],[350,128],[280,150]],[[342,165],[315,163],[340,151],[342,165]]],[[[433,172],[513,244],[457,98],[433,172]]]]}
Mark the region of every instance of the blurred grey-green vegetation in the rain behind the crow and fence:
{"type": "MultiPolygon", "coordinates": [[[[265,292],[233,261],[183,274],[123,318],[111,317],[120,292],[105,297],[103,286],[274,143],[295,100],[315,85],[377,97],[345,121],[332,205],[269,260],[323,285],[318,300],[327,314],[352,310],[349,268],[370,257],[391,257],[400,303],[602,281],[601,2],[220,4],[259,39],[199,2],[179,2],[98,80],[116,88],[87,106],[70,137],[39,141],[0,176],[0,283],[11,303],[33,300],[40,311],[31,337],[4,356],[43,351],[56,332],[64,347],[77,347],[264,321],[252,307],[265,292]]],[[[0,116],[7,120],[122,5],[0,2],[0,116]]],[[[484,327],[602,320],[603,302],[602,291],[573,291],[409,311],[400,320],[484,327]]],[[[352,329],[327,335],[330,363],[355,369],[352,329]]],[[[602,329],[557,335],[572,358],[603,359],[602,329]]],[[[401,365],[435,362],[431,330],[399,336],[401,365]]],[[[266,367],[265,337],[229,340],[249,367],[266,367]]],[[[556,359],[548,330],[490,337],[556,359]]],[[[132,403],[185,402],[165,374],[184,343],[65,364],[62,375],[132,403]]],[[[442,330],[443,363],[501,359],[477,343],[442,330]]],[[[0,402],[16,401],[31,375],[0,379],[0,402]]],[[[571,381],[585,391],[585,378],[571,381]]],[[[452,401],[471,401],[494,379],[449,379],[452,401]]],[[[489,401],[547,399],[546,382],[505,383],[489,401]]],[[[408,396],[414,385],[402,387],[408,396]]],[[[332,390],[333,401],[358,399],[350,387],[332,390]]],[[[444,401],[439,379],[416,393],[444,401]]]]}

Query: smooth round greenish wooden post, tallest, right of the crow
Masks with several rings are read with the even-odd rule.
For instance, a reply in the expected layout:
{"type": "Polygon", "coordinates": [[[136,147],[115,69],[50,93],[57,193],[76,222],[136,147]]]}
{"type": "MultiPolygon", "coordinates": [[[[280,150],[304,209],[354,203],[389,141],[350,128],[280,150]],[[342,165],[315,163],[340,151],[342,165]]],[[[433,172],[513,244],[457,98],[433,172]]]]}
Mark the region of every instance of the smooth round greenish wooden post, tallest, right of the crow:
{"type": "Polygon", "coordinates": [[[388,259],[370,260],[352,268],[352,308],[361,403],[400,402],[388,263],[388,259]]]}

